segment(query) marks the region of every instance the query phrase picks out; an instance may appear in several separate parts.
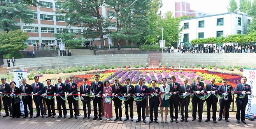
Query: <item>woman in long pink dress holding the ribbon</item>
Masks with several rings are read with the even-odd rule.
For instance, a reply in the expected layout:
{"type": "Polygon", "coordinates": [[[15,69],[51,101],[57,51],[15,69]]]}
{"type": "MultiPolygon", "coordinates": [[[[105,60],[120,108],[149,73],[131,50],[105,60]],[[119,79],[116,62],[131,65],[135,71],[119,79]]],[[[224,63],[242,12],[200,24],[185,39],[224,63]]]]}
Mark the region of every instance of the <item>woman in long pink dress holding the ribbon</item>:
{"type": "Polygon", "coordinates": [[[110,121],[113,118],[112,115],[112,100],[108,99],[107,96],[112,95],[112,88],[109,87],[109,81],[104,82],[103,88],[103,103],[104,103],[104,117],[107,118],[107,121],[110,121]]]}

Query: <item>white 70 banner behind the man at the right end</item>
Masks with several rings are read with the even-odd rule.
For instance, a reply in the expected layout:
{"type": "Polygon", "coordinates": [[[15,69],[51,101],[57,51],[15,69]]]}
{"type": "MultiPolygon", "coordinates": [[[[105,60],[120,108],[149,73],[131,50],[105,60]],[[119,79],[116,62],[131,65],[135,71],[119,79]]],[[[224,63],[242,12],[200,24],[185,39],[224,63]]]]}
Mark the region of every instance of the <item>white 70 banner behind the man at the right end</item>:
{"type": "Polygon", "coordinates": [[[245,116],[256,117],[256,98],[252,95],[256,95],[256,69],[244,69],[243,76],[247,78],[247,84],[251,86],[251,95],[248,95],[248,104],[245,109],[245,116]]]}

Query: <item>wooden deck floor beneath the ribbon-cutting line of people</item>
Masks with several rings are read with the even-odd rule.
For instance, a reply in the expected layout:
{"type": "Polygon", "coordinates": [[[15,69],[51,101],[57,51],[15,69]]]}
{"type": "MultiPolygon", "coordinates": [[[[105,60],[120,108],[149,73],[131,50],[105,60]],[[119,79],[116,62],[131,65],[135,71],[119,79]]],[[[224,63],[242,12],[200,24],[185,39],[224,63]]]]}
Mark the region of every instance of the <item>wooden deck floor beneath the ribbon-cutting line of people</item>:
{"type": "MultiPolygon", "coordinates": [[[[159,123],[149,123],[149,117],[146,118],[147,123],[138,122],[136,123],[136,118],[134,117],[134,121],[107,121],[105,118],[103,118],[102,121],[93,120],[93,115],[91,115],[91,118],[88,119],[82,119],[83,115],[79,116],[78,119],[67,118],[63,119],[57,119],[58,115],[56,115],[55,118],[11,118],[11,117],[3,117],[5,115],[4,112],[2,112],[2,116],[0,117],[0,129],[236,129],[236,128],[250,128],[250,129],[256,129],[256,121],[249,121],[246,120],[247,124],[243,124],[240,122],[240,124],[236,123],[235,115],[231,115],[229,120],[230,122],[217,121],[216,124],[214,124],[211,121],[204,122],[206,116],[203,116],[203,121],[198,122],[191,121],[191,117],[188,119],[188,122],[180,122],[179,123],[170,123],[170,118],[168,118],[167,124],[161,123],[161,118],[159,117],[159,123]]],[[[115,118],[115,117],[114,117],[115,118]]],[[[180,117],[178,118],[180,120],[180,117]]]]}

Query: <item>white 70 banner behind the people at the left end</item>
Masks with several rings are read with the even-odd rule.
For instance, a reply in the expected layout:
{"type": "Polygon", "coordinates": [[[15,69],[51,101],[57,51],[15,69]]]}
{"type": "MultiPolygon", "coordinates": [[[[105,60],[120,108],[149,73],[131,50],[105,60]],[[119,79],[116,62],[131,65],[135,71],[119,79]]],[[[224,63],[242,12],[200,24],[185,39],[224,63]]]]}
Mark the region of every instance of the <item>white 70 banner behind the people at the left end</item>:
{"type": "MultiPolygon", "coordinates": [[[[16,83],[16,87],[19,88],[20,85],[23,85],[21,82],[21,80],[23,78],[28,80],[28,72],[27,71],[14,71],[13,78],[16,83]]],[[[21,102],[20,102],[20,107],[21,107],[21,113],[24,114],[24,106],[23,106],[22,98],[21,98],[21,102]]]]}

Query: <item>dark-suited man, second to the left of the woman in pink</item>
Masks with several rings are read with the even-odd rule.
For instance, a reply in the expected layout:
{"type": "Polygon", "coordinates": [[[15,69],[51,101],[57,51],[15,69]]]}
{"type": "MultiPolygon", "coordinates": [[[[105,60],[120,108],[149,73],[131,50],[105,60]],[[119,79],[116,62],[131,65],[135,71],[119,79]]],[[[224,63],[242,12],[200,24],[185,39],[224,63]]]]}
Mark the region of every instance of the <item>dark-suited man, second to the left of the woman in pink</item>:
{"type": "Polygon", "coordinates": [[[82,107],[84,110],[84,117],[82,117],[83,119],[86,118],[88,116],[88,119],[91,118],[91,97],[86,96],[86,95],[90,95],[91,93],[91,86],[87,84],[87,78],[83,79],[83,83],[84,85],[81,85],[80,87],[80,94],[81,94],[81,100],[82,100],[82,107]],[[86,105],[87,105],[87,109],[88,109],[88,113],[86,114],[86,105]]]}

